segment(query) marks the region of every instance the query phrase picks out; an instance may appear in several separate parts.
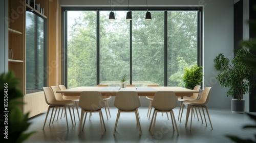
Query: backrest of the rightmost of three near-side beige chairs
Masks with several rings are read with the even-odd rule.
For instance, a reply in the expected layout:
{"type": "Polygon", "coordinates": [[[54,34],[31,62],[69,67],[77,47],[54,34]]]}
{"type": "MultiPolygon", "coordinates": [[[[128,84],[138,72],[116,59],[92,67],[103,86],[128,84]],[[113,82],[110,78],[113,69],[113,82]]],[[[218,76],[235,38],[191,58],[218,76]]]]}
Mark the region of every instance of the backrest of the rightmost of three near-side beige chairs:
{"type": "Polygon", "coordinates": [[[173,91],[157,91],[152,107],[161,111],[169,111],[177,106],[177,98],[173,91]]]}

